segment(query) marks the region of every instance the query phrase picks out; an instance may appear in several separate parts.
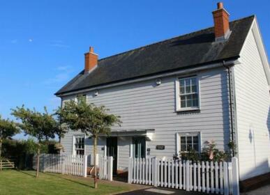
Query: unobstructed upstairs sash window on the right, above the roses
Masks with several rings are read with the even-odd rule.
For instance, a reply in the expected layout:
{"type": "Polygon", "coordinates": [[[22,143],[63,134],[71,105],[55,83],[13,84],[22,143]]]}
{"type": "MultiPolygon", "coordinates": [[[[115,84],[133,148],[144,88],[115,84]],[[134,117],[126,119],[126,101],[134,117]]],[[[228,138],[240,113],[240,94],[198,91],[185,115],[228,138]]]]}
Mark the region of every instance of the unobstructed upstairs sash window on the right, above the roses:
{"type": "Polygon", "coordinates": [[[199,84],[197,77],[177,81],[177,111],[199,109],[199,84]]]}

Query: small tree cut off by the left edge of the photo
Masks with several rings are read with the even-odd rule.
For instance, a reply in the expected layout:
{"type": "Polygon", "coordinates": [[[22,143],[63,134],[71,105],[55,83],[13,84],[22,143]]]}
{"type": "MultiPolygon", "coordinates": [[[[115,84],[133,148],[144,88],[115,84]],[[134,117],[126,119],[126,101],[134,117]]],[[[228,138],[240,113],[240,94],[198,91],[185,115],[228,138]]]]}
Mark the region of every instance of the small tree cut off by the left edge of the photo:
{"type": "Polygon", "coordinates": [[[12,120],[3,119],[0,116],[0,158],[3,139],[13,137],[13,135],[20,132],[20,129],[17,127],[16,123],[12,120]]]}

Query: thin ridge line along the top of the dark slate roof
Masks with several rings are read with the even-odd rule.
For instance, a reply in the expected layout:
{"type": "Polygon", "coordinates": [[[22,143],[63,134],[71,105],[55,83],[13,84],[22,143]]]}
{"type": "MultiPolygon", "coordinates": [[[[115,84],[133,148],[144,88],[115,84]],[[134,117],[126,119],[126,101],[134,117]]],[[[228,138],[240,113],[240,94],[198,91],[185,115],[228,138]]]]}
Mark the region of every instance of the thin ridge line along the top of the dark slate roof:
{"type": "MultiPolygon", "coordinates": [[[[255,17],[255,15],[253,14],[253,15],[250,15],[250,16],[247,16],[247,17],[241,17],[240,19],[232,20],[230,23],[232,23],[232,22],[237,22],[237,21],[240,21],[240,20],[245,20],[245,19],[248,19],[248,18],[250,18],[250,17],[255,17]]],[[[202,31],[207,31],[207,30],[212,29],[212,28],[213,28],[213,26],[207,27],[207,28],[204,28],[204,29],[200,29],[200,30],[198,30],[198,31],[193,31],[193,32],[191,32],[191,33],[185,33],[185,34],[182,34],[182,35],[180,35],[180,36],[174,36],[174,37],[172,37],[172,38],[167,38],[167,39],[165,39],[165,40],[160,40],[160,41],[157,41],[157,42],[152,42],[152,43],[149,43],[149,44],[144,45],[144,46],[141,46],[141,47],[136,47],[136,48],[134,48],[134,49],[130,49],[130,50],[126,51],[126,52],[120,52],[120,53],[114,54],[114,55],[112,55],[112,56],[107,56],[107,57],[105,57],[105,58],[103,58],[103,59],[99,59],[98,61],[103,61],[103,60],[105,60],[105,59],[110,59],[111,57],[119,56],[119,55],[121,55],[121,54],[126,54],[126,53],[128,53],[128,52],[133,52],[133,51],[135,51],[135,50],[142,49],[142,48],[145,48],[145,47],[150,47],[150,46],[152,46],[152,45],[159,44],[160,42],[166,42],[166,41],[168,41],[168,40],[173,40],[174,38],[180,38],[180,37],[182,37],[182,36],[188,36],[188,35],[191,35],[191,34],[193,34],[193,33],[202,32],[202,31]]]]}

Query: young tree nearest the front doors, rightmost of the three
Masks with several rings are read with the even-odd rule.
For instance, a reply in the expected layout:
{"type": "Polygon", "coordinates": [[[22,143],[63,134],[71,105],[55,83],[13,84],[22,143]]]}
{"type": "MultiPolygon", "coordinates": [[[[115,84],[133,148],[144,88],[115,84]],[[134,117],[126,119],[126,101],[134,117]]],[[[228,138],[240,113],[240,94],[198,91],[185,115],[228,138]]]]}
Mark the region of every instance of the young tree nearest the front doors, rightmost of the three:
{"type": "Polygon", "coordinates": [[[93,161],[94,161],[94,187],[98,187],[96,175],[96,146],[100,134],[110,134],[112,125],[120,125],[119,116],[107,114],[109,109],[104,106],[97,107],[94,104],[87,104],[81,97],[77,102],[70,100],[56,112],[59,120],[65,127],[73,131],[82,131],[91,135],[93,139],[93,161]]]}

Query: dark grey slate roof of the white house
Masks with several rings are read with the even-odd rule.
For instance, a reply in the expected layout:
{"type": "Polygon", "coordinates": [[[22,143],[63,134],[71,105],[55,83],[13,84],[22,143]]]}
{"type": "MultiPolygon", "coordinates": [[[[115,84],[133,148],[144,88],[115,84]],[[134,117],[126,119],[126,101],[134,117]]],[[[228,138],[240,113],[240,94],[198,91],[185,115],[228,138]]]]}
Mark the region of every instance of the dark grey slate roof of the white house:
{"type": "Polygon", "coordinates": [[[123,52],[98,61],[89,74],[80,72],[55,95],[161,72],[239,58],[255,16],[230,22],[229,40],[215,42],[213,27],[123,52]]]}

